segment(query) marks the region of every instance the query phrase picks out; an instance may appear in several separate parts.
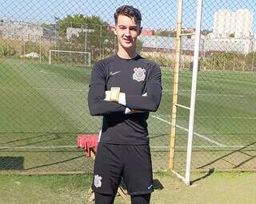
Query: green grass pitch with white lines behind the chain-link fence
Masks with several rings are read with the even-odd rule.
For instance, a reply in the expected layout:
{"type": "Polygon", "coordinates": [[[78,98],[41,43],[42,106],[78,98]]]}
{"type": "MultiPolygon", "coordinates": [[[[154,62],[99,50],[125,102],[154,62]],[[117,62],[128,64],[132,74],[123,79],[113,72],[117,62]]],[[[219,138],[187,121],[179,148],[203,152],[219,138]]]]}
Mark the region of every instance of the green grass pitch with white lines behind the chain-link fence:
{"type": "MultiPolygon", "coordinates": [[[[91,68],[0,60],[0,170],[90,172],[78,133],[98,133],[90,116],[91,68]]],[[[162,103],[150,115],[154,170],[168,168],[172,73],[162,71],[162,103]]],[[[178,104],[189,106],[191,72],[179,77],[178,104]]],[[[193,168],[255,169],[256,75],[199,72],[193,168]]],[[[184,169],[189,112],[178,108],[175,167],[184,169]]]]}

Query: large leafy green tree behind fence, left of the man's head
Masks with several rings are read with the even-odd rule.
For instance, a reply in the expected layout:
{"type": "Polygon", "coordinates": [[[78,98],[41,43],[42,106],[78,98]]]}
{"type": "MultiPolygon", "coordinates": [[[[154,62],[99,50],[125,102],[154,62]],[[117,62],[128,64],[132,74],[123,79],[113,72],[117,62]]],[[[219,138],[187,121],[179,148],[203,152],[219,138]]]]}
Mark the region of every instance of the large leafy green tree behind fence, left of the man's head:
{"type": "MultiPolygon", "coordinates": [[[[58,21],[60,39],[59,49],[88,51],[93,53],[93,61],[113,55],[117,49],[117,40],[110,25],[98,16],[84,16],[82,14],[68,15],[58,21]],[[79,28],[81,32],[66,39],[67,28],[79,28]]],[[[142,49],[142,41],[138,41],[138,50],[142,49]]]]}

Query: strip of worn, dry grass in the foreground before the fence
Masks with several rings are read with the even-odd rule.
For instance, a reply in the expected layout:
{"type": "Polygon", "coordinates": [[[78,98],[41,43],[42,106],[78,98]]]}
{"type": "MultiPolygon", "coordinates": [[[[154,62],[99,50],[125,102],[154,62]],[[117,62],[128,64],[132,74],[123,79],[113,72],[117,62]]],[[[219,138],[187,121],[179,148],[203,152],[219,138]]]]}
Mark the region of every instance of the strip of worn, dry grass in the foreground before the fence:
{"type": "MultiPolygon", "coordinates": [[[[256,199],[255,173],[214,172],[197,174],[187,187],[170,172],[154,174],[152,204],[251,204],[256,199]],[[200,179],[201,178],[201,179],[200,179]]],[[[88,202],[91,175],[0,175],[0,204],[94,203],[88,202]]],[[[129,196],[128,196],[129,198],[129,196]]],[[[116,196],[115,204],[125,204],[116,196]]]]}

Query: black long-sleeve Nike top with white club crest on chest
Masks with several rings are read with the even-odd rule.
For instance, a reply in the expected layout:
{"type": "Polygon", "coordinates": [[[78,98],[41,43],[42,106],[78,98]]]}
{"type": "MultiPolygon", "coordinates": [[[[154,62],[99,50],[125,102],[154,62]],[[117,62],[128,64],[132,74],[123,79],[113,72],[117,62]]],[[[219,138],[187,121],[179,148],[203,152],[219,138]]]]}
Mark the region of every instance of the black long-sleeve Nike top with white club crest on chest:
{"type": "Polygon", "coordinates": [[[99,142],[149,143],[146,120],[149,112],[158,109],[161,96],[161,69],[154,62],[139,55],[133,59],[115,55],[98,61],[90,77],[88,105],[90,115],[103,116],[99,142]],[[126,93],[126,106],[104,100],[111,87],[126,93]],[[125,114],[126,108],[143,112],[125,114]]]}

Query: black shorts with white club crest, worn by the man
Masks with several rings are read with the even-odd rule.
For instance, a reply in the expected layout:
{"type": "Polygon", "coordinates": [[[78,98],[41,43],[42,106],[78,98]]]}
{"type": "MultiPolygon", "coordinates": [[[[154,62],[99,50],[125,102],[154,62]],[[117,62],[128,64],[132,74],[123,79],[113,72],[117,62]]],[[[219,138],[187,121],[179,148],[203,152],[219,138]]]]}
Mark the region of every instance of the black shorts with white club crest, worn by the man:
{"type": "Polygon", "coordinates": [[[92,189],[116,194],[123,179],[128,194],[154,191],[150,146],[98,143],[92,189]]]}

